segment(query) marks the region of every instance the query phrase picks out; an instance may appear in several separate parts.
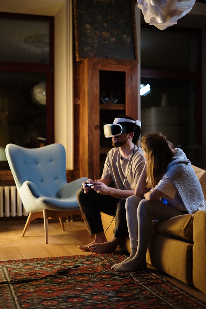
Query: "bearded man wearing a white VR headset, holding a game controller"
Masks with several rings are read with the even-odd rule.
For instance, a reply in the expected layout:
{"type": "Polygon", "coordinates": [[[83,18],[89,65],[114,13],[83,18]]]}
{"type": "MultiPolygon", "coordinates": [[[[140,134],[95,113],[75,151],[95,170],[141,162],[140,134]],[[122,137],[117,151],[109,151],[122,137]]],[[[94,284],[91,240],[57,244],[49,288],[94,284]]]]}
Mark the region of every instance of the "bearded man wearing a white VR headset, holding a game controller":
{"type": "Polygon", "coordinates": [[[113,124],[104,125],[104,135],[112,138],[114,148],[107,153],[101,178],[95,181],[88,179],[82,183],[83,189],[77,192],[90,232],[95,234],[93,242],[78,246],[79,249],[95,253],[112,252],[128,234],[125,201],[134,195],[145,164],[142,149],[135,145],[140,133],[141,122],[123,114],[115,118],[113,124]],[[116,214],[114,236],[109,241],[104,235],[100,211],[112,216],[116,214]]]}

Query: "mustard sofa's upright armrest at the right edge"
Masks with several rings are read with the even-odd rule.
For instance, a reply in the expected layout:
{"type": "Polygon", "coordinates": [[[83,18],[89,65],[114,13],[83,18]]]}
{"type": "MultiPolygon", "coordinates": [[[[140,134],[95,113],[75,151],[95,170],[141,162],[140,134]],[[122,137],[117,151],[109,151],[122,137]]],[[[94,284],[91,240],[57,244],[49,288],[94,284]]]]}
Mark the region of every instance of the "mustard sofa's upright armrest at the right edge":
{"type": "Polygon", "coordinates": [[[206,294],[206,210],[194,215],[193,241],[193,285],[206,294]]]}

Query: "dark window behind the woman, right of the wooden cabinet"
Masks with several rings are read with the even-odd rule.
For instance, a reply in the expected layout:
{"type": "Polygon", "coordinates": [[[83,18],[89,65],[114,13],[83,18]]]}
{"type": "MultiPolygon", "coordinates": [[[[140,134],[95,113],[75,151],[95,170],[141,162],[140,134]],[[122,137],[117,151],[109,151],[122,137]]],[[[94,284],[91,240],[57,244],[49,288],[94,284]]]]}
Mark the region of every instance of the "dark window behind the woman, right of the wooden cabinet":
{"type": "Polygon", "coordinates": [[[200,31],[141,28],[142,133],[160,131],[201,166],[200,31]],[[191,151],[192,150],[192,151],[191,151]]]}

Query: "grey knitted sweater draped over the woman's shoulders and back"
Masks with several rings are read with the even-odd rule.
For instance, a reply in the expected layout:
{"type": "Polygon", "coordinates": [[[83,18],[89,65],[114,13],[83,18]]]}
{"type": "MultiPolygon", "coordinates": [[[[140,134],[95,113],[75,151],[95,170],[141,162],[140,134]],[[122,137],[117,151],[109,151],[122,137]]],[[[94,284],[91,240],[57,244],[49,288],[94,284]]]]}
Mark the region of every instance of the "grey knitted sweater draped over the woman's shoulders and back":
{"type": "Polygon", "coordinates": [[[204,201],[204,195],[191,162],[180,148],[175,148],[175,155],[167,165],[164,176],[174,184],[183,205],[189,214],[193,213],[204,201]]]}

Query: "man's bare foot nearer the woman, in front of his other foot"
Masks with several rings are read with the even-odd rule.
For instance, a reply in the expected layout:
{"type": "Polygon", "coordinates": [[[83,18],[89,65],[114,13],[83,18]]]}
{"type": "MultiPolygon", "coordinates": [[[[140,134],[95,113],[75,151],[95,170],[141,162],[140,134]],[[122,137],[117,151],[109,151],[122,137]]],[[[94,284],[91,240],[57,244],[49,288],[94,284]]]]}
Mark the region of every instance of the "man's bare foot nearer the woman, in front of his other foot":
{"type": "Polygon", "coordinates": [[[91,252],[95,253],[109,253],[116,250],[118,244],[120,242],[120,238],[112,236],[109,241],[103,243],[93,243],[88,246],[91,252]]]}

